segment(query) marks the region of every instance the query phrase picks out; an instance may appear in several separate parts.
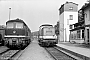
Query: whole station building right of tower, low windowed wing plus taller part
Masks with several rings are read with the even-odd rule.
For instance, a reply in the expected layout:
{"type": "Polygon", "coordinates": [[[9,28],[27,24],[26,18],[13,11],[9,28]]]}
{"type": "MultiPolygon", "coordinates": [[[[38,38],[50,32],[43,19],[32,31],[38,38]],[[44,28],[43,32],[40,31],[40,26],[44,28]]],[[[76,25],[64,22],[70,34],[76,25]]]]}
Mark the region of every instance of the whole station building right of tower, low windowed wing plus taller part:
{"type": "Polygon", "coordinates": [[[80,10],[83,11],[83,19],[71,25],[70,42],[90,44],[90,2],[85,3],[80,10]]]}

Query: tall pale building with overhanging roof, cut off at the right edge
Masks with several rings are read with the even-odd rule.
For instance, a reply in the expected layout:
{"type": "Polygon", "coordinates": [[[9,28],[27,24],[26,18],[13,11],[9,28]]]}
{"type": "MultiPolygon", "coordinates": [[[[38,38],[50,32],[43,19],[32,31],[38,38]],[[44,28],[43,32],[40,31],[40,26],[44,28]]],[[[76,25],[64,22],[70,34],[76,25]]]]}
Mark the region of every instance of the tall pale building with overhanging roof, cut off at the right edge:
{"type": "Polygon", "coordinates": [[[81,9],[84,11],[85,43],[90,44],[90,2],[85,4],[81,9]]]}

